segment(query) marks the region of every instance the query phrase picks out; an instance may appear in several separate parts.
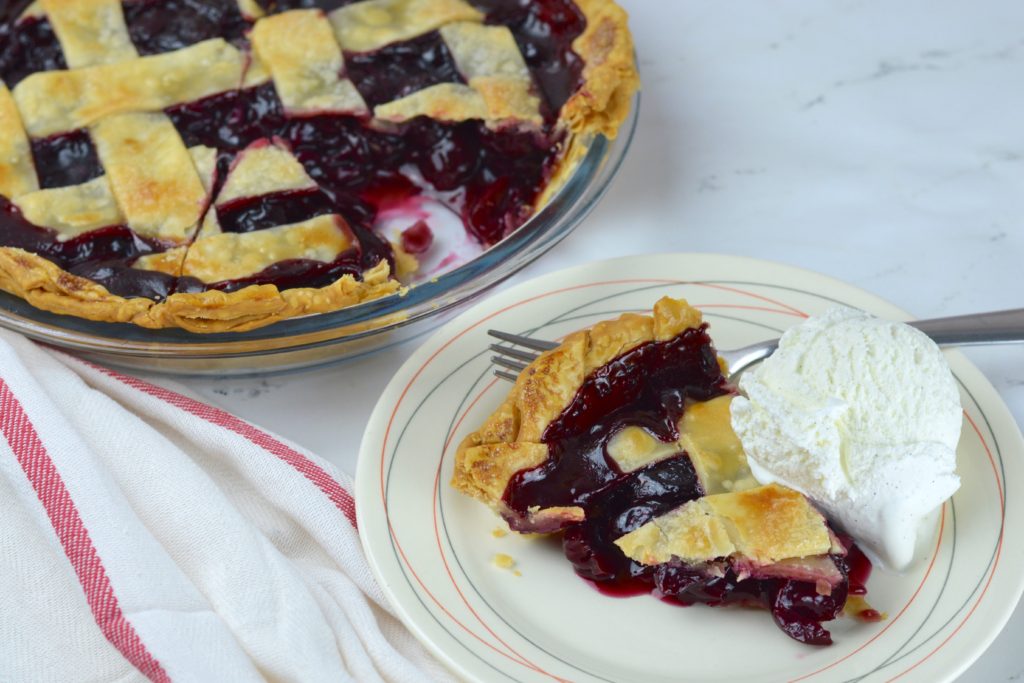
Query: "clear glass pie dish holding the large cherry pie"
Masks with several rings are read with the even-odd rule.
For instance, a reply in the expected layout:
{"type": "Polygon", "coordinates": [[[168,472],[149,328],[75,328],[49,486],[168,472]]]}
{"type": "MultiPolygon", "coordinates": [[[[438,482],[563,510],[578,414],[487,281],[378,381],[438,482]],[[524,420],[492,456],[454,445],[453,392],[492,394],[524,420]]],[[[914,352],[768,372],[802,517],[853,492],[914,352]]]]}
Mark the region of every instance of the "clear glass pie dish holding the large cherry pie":
{"type": "Polygon", "coordinates": [[[128,370],[239,376],[298,370],[369,353],[440,325],[574,229],[604,193],[629,150],[636,95],[615,139],[595,135],[564,185],[515,232],[471,261],[392,295],[334,312],[282,321],[244,333],[147,330],[58,315],[0,292],[0,327],[128,370]]]}

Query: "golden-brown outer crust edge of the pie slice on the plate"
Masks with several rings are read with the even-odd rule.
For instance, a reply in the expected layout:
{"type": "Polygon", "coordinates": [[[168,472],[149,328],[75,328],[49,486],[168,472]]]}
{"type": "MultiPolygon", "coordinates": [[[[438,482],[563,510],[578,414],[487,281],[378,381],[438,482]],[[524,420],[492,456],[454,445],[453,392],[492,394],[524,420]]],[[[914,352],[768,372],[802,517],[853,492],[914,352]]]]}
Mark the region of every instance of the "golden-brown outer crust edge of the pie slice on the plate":
{"type": "MultiPolygon", "coordinates": [[[[682,299],[665,297],[651,315],[627,313],[569,335],[529,364],[498,410],[462,440],[452,485],[505,512],[502,496],[509,480],[548,459],[548,446],[541,441],[544,431],[588,375],[641,344],[673,339],[700,323],[700,311],[682,299]]],[[[548,520],[582,518],[579,508],[559,508],[538,510],[529,522],[544,527],[548,520]]]]}

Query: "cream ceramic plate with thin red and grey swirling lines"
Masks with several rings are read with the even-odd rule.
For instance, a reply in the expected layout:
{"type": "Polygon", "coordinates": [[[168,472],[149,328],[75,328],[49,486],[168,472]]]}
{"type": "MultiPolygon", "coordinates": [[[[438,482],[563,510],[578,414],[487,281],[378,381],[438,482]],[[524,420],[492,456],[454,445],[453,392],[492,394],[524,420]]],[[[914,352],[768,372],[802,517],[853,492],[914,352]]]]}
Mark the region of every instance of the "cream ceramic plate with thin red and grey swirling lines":
{"type": "Polygon", "coordinates": [[[1024,589],[1024,440],[998,394],[956,352],[965,423],[963,486],[934,550],[899,575],[868,582],[881,624],[841,618],[830,647],[801,645],[760,610],[615,599],[578,579],[550,540],[498,538],[502,520],[447,484],[455,446],[501,401],[489,328],[547,339],[663,295],[703,311],[721,348],[775,337],[834,303],[906,314],[806,270],[729,256],[616,259],[552,273],[490,296],[444,326],[401,368],[359,454],[359,531],[402,621],[473,681],[941,681],[991,643],[1024,589]],[[498,553],[514,570],[494,563],[498,553]]]}

